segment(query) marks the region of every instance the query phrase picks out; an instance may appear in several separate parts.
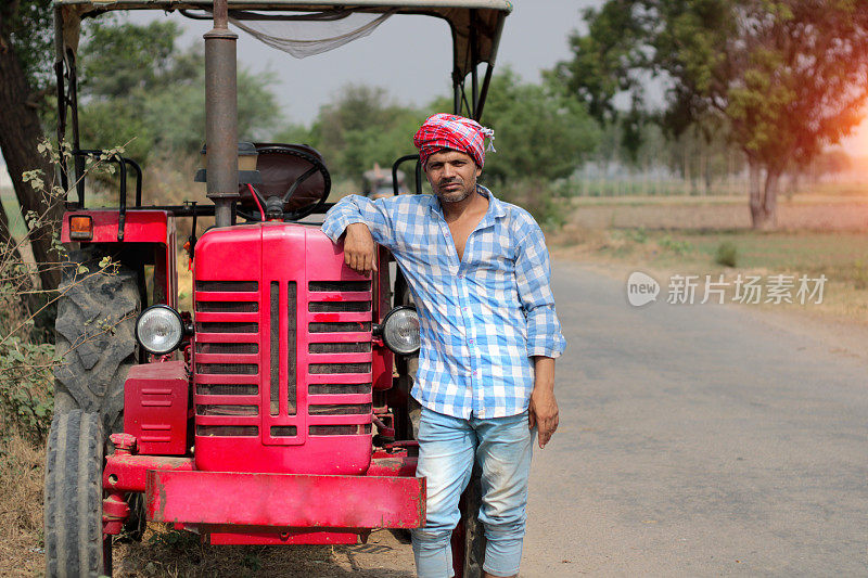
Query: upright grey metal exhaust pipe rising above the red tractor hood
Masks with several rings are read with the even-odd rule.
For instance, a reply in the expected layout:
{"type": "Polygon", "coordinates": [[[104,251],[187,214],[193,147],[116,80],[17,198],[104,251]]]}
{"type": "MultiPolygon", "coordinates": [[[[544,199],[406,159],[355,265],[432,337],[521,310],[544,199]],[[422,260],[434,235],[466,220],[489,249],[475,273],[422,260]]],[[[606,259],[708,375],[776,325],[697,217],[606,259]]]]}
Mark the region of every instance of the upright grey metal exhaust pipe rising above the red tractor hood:
{"type": "Polygon", "coordinates": [[[238,35],[229,30],[227,0],[214,0],[214,28],[205,34],[207,195],[215,224],[232,224],[238,194],[238,35]]]}

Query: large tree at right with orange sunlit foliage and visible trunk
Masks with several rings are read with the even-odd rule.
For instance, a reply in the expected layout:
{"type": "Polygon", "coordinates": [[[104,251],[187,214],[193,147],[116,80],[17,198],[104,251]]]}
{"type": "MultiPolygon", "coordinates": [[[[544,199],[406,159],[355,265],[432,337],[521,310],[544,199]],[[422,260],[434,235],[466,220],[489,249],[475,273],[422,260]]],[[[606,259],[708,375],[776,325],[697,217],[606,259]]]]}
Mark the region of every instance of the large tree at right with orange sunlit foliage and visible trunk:
{"type": "Polygon", "coordinates": [[[724,123],[751,171],[753,224],[775,224],[780,176],[859,120],[868,100],[868,11],[856,0],[609,0],[585,13],[554,76],[598,116],[620,92],[650,114],[649,75],[669,89],[661,123],[724,123]]]}

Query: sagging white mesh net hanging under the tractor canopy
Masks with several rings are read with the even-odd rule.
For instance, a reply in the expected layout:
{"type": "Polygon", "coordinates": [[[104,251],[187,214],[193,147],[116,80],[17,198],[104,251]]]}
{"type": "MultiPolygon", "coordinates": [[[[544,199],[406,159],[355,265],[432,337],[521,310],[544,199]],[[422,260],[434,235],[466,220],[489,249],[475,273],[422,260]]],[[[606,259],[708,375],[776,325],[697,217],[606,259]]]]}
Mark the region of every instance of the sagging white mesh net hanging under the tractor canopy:
{"type": "Polygon", "coordinates": [[[342,11],[309,14],[293,21],[231,17],[230,21],[266,44],[304,59],[368,36],[392,14],[394,11],[384,14],[342,11]]]}

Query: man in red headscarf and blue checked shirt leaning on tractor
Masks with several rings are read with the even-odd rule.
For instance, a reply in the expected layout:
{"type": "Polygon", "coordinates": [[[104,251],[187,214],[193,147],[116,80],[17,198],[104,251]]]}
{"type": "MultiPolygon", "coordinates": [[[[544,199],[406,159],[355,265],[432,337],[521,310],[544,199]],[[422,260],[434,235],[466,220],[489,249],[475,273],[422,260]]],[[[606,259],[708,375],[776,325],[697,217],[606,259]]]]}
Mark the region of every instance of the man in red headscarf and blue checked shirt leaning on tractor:
{"type": "MultiPolygon", "coordinates": [[[[430,117],[413,138],[434,195],[350,195],[322,230],[344,259],[375,269],[375,244],[395,256],[419,311],[422,346],[411,391],[422,406],[418,476],[427,519],[413,530],[417,573],[452,575],[449,539],[474,459],[482,470],[485,576],[516,576],[533,436],[558,427],[554,358],[565,347],[549,287],[549,257],[531,215],[476,184],[490,129],[430,117]]],[[[489,144],[490,146],[490,144],[489,144]]]]}

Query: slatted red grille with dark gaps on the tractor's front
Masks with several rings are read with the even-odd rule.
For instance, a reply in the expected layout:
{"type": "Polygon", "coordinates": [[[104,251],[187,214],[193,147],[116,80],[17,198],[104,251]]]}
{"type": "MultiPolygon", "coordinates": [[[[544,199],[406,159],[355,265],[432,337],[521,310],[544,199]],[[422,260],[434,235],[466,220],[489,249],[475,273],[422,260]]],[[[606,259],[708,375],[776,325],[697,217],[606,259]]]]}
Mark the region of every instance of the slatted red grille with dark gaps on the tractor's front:
{"type": "Polygon", "coordinates": [[[261,428],[271,438],[297,437],[297,423],[285,422],[297,422],[299,376],[309,396],[305,415],[314,418],[307,420],[309,435],[370,433],[370,423],[343,423],[370,422],[370,281],[310,281],[302,307],[293,280],[263,283],[265,294],[259,286],[256,281],[196,282],[196,416],[227,422],[199,427],[197,433],[207,432],[199,435],[246,436],[261,428]],[[306,326],[299,309],[307,310],[306,326]],[[301,370],[299,325],[307,350],[301,370]],[[260,387],[267,388],[265,406],[260,387]],[[261,412],[268,422],[282,423],[266,427],[261,412]],[[334,416],[340,416],[336,423],[328,423],[334,416]]]}

